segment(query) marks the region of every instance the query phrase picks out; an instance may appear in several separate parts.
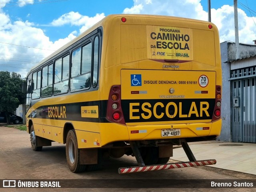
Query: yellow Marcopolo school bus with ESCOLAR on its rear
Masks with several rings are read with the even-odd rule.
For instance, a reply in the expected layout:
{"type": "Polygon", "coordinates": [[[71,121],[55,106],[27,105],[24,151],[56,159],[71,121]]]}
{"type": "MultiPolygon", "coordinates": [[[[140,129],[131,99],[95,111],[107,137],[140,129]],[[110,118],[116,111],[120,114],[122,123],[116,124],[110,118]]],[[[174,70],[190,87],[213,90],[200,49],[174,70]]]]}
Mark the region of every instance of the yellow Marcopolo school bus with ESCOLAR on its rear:
{"type": "Polygon", "coordinates": [[[66,144],[72,172],[102,168],[106,157],[124,154],[145,171],[167,164],[173,145],[196,161],[187,142],[220,135],[221,76],[214,24],[106,16],[28,72],[32,148],[66,144]]]}

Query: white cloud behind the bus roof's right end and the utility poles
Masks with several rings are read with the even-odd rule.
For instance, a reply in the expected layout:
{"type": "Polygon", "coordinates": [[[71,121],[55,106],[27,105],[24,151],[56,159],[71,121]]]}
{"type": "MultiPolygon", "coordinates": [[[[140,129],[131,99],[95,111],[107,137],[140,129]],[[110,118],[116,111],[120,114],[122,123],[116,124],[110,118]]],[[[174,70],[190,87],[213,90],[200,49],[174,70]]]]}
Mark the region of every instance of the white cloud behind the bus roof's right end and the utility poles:
{"type": "MultiPolygon", "coordinates": [[[[201,0],[134,0],[131,8],[125,8],[125,14],[168,15],[198,20],[208,20],[208,13],[203,10],[201,0]]],[[[234,7],[224,5],[219,9],[211,9],[212,22],[220,33],[220,42],[235,41],[234,7]]],[[[252,44],[256,39],[256,17],[249,17],[238,9],[239,42],[252,44]]]]}

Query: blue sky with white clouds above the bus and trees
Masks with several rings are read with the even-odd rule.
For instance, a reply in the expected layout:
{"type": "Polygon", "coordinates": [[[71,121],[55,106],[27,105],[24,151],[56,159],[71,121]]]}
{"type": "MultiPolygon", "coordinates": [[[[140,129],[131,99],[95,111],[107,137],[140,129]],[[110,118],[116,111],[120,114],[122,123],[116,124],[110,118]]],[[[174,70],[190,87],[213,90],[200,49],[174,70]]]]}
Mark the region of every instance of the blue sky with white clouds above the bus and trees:
{"type": "MultiPolygon", "coordinates": [[[[233,3],[211,0],[212,22],[219,29],[220,42],[235,41],[233,3]]],[[[53,50],[105,16],[122,13],[208,20],[208,0],[0,0],[0,71],[25,77],[53,50]]],[[[256,39],[255,0],[238,0],[238,22],[240,42],[252,44],[256,39]]]]}

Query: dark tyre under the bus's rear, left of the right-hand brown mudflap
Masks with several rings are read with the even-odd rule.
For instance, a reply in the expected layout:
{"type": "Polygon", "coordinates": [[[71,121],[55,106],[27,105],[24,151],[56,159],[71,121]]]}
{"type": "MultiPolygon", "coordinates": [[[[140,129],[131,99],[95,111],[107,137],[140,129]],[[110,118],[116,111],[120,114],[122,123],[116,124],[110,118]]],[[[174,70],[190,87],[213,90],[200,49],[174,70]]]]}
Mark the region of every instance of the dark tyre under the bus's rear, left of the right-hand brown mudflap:
{"type": "Polygon", "coordinates": [[[141,147],[140,153],[145,165],[154,165],[158,161],[158,147],[141,147]]]}

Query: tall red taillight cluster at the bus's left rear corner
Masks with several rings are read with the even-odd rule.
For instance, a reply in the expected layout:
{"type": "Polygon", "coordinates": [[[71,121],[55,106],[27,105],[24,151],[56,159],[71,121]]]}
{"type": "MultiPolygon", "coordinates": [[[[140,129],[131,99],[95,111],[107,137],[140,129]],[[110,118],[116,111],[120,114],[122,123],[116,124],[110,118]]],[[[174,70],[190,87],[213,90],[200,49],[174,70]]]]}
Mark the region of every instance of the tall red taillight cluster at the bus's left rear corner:
{"type": "Polygon", "coordinates": [[[125,124],[121,107],[121,85],[113,85],[110,89],[106,118],[111,122],[125,124]]]}

